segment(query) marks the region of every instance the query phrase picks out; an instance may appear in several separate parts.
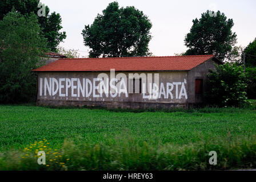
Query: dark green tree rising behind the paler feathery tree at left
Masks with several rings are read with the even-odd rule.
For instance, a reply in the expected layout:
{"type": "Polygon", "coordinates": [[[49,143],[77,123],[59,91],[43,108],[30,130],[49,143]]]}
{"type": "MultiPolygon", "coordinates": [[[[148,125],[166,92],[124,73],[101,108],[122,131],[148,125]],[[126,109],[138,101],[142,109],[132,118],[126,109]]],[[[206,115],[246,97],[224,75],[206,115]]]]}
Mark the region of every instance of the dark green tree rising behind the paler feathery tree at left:
{"type": "MultiPolygon", "coordinates": [[[[29,15],[31,12],[38,15],[41,7],[38,7],[39,0],[0,0],[0,20],[3,19],[12,9],[22,15],[29,15]]],[[[58,13],[49,14],[49,7],[45,6],[45,16],[40,16],[38,22],[42,28],[43,35],[47,39],[47,46],[51,51],[56,51],[57,46],[66,38],[66,32],[60,32],[61,15],[58,13]]],[[[40,11],[40,13],[42,13],[40,11]]]]}

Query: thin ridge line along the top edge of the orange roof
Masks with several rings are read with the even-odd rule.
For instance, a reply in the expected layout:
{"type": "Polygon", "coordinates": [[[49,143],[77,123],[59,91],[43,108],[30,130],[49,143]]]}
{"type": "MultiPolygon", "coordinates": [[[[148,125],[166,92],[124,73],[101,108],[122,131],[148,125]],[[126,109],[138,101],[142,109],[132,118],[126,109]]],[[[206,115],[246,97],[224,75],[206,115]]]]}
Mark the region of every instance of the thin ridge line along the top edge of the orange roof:
{"type": "Polygon", "coordinates": [[[77,57],[62,58],[61,60],[84,60],[84,59],[138,59],[138,58],[161,58],[161,57],[209,57],[214,55],[186,55],[186,56],[142,56],[142,57],[77,57]]]}

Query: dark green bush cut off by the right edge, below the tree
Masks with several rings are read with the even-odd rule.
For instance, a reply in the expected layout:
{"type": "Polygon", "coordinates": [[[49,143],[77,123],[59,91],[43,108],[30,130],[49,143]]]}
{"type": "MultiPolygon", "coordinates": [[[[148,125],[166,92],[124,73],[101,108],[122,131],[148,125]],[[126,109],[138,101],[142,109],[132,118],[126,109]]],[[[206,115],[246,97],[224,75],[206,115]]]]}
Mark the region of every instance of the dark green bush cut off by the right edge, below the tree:
{"type": "Polygon", "coordinates": [[[246,68],[245,72],[248,80],[247,97],[256,99],[256,68],[246,68]]]}

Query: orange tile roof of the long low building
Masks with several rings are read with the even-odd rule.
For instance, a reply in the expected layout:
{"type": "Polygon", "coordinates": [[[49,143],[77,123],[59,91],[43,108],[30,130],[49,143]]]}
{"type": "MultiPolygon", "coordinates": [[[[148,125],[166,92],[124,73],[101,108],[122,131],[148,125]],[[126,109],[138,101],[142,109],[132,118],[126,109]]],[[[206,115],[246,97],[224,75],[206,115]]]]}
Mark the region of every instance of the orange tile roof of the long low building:
{"type": "Polygon", "coordinates": [[[213,57],[214,55],[59,59],[33,71],[188,71],[213,57]]]}

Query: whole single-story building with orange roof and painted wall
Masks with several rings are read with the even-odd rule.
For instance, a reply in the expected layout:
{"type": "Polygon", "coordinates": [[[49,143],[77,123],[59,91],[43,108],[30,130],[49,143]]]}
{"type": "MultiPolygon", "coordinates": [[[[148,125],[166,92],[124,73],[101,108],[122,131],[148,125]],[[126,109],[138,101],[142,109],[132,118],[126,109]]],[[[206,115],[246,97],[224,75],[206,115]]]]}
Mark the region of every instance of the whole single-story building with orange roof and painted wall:
{"type": "Polygon", "coordinates": [[[203,102],[214,55],[59,59],[34,69],[38,105],[189,107],[203,102]]]}

